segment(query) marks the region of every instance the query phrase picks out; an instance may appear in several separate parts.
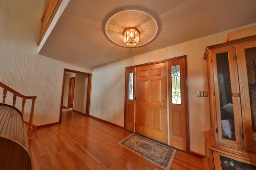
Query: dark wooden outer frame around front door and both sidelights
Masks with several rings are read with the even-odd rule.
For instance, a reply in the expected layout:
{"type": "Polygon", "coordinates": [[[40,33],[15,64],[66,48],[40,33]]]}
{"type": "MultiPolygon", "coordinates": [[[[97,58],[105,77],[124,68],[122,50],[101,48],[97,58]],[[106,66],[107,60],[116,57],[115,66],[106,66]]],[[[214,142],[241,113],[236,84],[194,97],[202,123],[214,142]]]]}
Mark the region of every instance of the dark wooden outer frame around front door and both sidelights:
{"type": "MultiPolygon", "coordinates": [[[[158,63],[165,63],[165,62],[168,62],[168,61],[175,61],[175,60],[180,60],[182,59],[183,62],[184,62],[184,70],[185,70],[185,83],[186,83],[186,94],[188,96],[188,78],[187,78],[187,56],[186,55],[183,55],[183,56],[179,56],[179,57],[174,57],[174,58],[170,58],[170,59],[164,59],[164,60],[160,60],[160,61],[154,61],[154,62],[150,62],[150,63],[144,63],[144,64],[138,64],[138,65],[134,65],[134,66],[129,66],[129,67],[126,67],[126,71],[125,71],[125,75],[126,75],[126,79],[125,79],[125,94],[124,94],[124,129],[126,129],[126,103],[127,103],[127,100],[128,100],[128,90],[127,90],[127,72],[128,72],[128,69],[129,68],[136,68],[136,67],[140,67],[140,66],[147,66],[147,65],[152,65],[152,64],[158,64],[158,63]]],[[[136,69],[134,69],[136,70],[136,69]]],[[[134,72],[134,75],[135,75],[135,72],[134,72]]],[[[135,83],[135,82],[134,82],[135,83]]],[[[135,87],[136,88],[136,87],[135,87]]],[[[134,92],[135,92],[135,89],[134,89],[134,92]]],[[[168,95],[168,94],[167,94],[168,95]]],[[[136,95],[134,95],[136,96],[136,95]]],[[[190,153],[190,135],[189,135],[189,115],[188,115],[188,98],[186,100],[186,137],[187,137],[187,141],[186,141],[186,152],[187,153],[190,153]]],[[[134,122],[135,123],[135,122],[134,122]]],[[[169,124],[170,125],[170,124],[169,124]]]]}

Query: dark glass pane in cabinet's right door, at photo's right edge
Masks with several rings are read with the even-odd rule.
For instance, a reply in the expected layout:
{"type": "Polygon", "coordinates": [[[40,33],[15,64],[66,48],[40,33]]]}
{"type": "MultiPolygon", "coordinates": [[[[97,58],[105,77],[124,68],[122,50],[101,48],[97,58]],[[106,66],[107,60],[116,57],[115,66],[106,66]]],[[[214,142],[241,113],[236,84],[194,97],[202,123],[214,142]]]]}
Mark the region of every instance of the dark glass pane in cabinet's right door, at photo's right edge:
{"type": "Polygon", "coordinates": [[[256,146],[256,47],[245,49],[254,146],[256,146]]]}

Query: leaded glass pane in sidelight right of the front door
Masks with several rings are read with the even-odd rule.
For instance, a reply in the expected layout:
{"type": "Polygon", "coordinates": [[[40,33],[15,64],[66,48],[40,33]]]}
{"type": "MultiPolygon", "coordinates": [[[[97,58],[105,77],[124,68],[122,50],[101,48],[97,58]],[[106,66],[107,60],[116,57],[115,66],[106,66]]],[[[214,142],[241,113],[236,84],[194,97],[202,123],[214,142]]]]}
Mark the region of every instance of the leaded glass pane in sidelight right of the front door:
{"type": "Polygon", "coordinates": [[[180,65],[171,67],[172,74],[172,104],[181,104],[180,65]]]}

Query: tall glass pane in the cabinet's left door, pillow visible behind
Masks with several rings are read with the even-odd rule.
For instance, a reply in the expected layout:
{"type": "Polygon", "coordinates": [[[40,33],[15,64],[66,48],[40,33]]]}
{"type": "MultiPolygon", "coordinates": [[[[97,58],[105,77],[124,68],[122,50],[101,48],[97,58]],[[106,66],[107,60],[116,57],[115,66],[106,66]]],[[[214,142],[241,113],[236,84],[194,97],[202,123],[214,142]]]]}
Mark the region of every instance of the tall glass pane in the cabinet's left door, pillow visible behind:
{"type": "Polygon", "coordinates": [[[228,53],[216,54],[222,138],[236,141],[228,53]]]}

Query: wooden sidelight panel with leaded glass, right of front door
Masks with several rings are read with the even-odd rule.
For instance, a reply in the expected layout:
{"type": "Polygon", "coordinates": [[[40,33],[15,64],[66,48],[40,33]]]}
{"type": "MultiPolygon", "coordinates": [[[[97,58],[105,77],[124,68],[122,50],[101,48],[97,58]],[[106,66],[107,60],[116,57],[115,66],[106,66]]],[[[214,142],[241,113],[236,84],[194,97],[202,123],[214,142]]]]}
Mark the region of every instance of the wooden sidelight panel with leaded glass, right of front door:
{"type": "Polygon", "coordinates": [[[170,146],[186,151],[188,148],[188,115],[186,60],[168,62],[170,146]]]}

